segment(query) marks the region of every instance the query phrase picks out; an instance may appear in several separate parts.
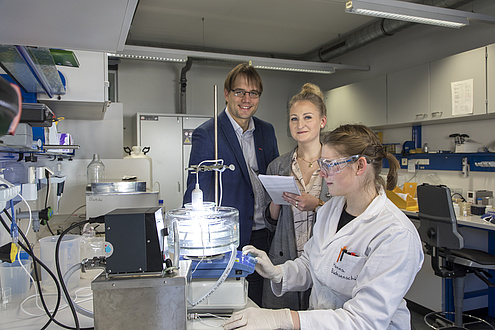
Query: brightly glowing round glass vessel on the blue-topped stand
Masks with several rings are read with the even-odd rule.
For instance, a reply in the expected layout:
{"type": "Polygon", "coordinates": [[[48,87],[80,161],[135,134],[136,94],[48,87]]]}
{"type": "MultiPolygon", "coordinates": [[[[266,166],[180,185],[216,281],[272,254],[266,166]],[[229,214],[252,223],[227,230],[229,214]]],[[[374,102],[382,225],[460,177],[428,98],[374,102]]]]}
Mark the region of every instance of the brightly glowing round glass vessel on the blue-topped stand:
{"type": "Polygon", "coordinates": [[[232,207],[216,207],[204,202],[200,210],[186,204],[165,215],[169,235],[169,251],[174,251],[174,222],[177,223],[180,254],[183,256],[215,256],[239,246],[239,211],[232,207]]]}

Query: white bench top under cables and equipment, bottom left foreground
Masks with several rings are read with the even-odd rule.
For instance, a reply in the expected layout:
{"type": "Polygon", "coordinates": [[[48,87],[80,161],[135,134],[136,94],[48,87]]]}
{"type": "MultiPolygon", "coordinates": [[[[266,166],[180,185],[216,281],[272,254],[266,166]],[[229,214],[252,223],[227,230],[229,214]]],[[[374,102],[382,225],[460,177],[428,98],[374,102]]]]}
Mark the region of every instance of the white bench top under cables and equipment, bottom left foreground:
{"type": "MultiPolygon", "coordinates": [[[[74,299],[74,294],[77,291],[78,301],[81,303],[79,305],[89,311],[93,310],[93,299],[92,299],[92,290],[91,290],[91,278],[81,278],[79,282],[79,287],[75,290],[71,290],[71,295],[74,299]]],[[[45,301],[47,303],[48,308],[53,309],[56,303],[56,295],[53,292],[43,292],[44,294],[48,293],[49,295],[45,295],[45,301]]],[[[34,286],[31,285],[29,296],[34,294],[34,286]]],[[[25,299],[25,298],[24,298],[25,299]]],[[[6,310],[0,310],[0,329],[9,329],[9,330],[39,330],[41,329],[46,322],[48,321],[48,317],[45,312],[38,309],[36,307],[35,299],[31,298],[27,300],[23,304],[23,309],[31,314],[38,314],[41,316],[30,316],[26,314],[20,308],[21,301],[11,303],[10,307],[6,310]]],[[[63,297],[60,301],[60,306],[66,305],[63,297]]],[[[41,306],[41,301],[40,301],[41,306]]],[[[257,307],[257,305],[248,298],[248,303],[246,307],[257,307]]],[[[210,312],[211,314],[215,314],[215,312],[210,312]]],[[[206,313],[202,313],[206,314],[206,313]]],[[[230,317],[225,314],[225,312],[218,312],[219,315],[226,315],[224,317],[230,317]]],[[[80,328],[92,328],[93,327],[93,319],[87,316],[77,314],[79,319],[80,328]]],[[[138,317],[136,315],[136,317],[138,317]]],[[[55,318],[60,323],[64,325],[74,327],[74,319],[72,317],[72,313],[69,307],[65,307],[63,309],[59,309],[55,318]]],[[[187,321],[187,329],[188,330],[202,330],[202,329],[223,329],[222,324],[224,320],[215,318],[215,317],[201,317],[201,319],[196,320],[188,320],[187,321]]],[[[164,327],[165,328],[165,327],[164,327]]],[[[51,322],[50,325],[46,329],[63,329],[61,326],[51,322]]]]}

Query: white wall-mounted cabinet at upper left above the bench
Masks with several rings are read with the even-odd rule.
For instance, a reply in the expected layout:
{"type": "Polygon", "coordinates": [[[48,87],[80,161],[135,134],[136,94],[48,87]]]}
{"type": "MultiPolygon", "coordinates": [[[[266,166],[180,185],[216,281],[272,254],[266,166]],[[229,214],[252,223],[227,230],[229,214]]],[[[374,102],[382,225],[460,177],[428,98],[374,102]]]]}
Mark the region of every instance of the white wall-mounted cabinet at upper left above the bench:
{"type": "Polygon", "coordinates": [[[58,116],[67,119],[103,119],[108,100],[106,53],[75,51],[79,67],[57,66],[66,80],[66,93],[49,98],[38,94],[58,116]]]}

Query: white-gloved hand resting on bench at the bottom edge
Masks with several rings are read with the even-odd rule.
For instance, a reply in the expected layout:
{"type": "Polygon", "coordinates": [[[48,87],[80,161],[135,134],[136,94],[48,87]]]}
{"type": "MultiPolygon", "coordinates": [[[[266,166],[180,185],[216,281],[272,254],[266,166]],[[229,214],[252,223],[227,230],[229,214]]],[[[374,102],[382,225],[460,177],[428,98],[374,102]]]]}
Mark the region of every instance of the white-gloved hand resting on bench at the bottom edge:
{"type": "Polygon", "coordinates": [[[223,324],[225,330],[230,329],[294,329],[289,309],[263,309],[249,307],[235,312],[223,324]]]}

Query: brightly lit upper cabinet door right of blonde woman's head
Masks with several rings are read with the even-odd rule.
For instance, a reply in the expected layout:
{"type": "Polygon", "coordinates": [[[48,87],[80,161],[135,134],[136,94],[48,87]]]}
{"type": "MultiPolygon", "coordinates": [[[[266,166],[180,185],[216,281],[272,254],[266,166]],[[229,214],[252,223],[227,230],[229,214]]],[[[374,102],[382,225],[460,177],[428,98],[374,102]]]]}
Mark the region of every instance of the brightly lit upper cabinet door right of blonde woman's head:
{"type": "Polygon", "coordinates": [[[346,85],[325,93],[328,128],[342,124],[387,124],[385,76],[346,85]]]}

